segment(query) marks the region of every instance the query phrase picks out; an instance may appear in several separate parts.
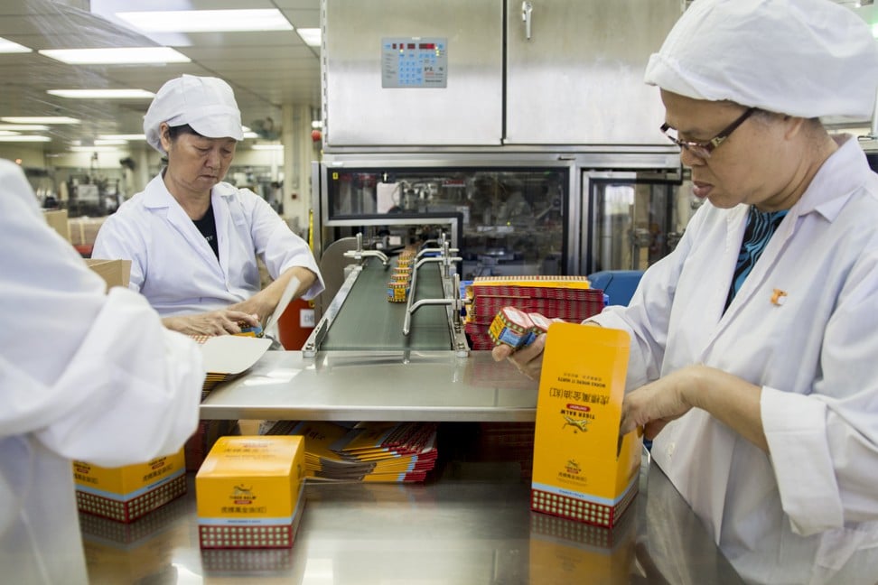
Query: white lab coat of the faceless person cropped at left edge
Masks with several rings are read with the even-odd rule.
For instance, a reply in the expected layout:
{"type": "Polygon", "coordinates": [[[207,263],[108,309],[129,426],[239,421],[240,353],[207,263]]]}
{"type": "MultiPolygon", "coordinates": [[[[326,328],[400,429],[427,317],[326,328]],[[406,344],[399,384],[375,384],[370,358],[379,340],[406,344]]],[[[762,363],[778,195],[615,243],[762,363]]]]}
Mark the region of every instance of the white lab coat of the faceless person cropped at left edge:
{"type": "Polygon", "coordinates": [[[105,284],[0,161],[0,581],[86,583],[71,460],[179,450],[195,430],[198,346],[105,284]]]}

